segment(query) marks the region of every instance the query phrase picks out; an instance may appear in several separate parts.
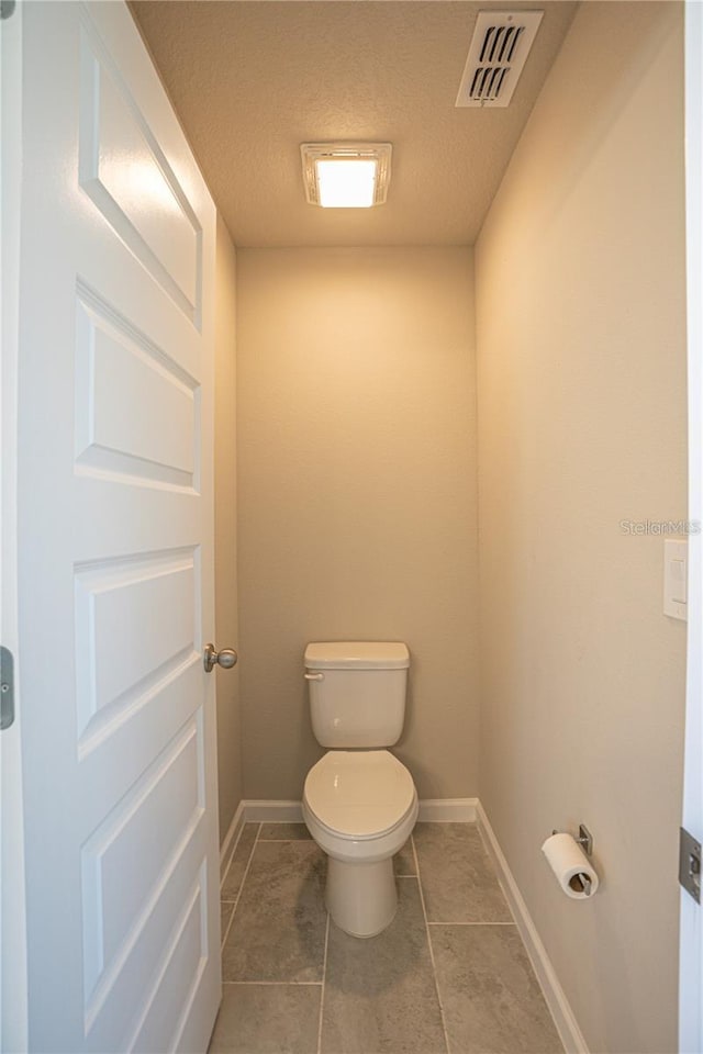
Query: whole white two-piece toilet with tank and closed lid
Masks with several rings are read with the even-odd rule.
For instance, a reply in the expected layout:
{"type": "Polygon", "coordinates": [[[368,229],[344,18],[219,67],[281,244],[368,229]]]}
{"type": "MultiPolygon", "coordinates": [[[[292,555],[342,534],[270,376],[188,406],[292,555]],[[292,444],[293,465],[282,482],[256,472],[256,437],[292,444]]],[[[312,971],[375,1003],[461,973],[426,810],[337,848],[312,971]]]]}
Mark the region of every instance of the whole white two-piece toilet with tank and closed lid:
{"type": "Polygon", "coordinates": [[[376,937],[398,907],[393,855],[417,819],[400,739],[410,654],[397,641],[308,644],[312,728],[326,754],[308,773],[303,819],[327,854],[325,901],[352,937],[376,937]]]}

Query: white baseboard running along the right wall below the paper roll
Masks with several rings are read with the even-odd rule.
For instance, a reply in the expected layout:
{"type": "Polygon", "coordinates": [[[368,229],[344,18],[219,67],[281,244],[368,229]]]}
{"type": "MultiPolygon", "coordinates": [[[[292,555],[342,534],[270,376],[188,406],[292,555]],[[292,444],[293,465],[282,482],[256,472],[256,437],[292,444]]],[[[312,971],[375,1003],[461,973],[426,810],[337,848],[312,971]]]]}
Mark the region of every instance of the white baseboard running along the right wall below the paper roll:
{"type": "Polygon", "coordinates": [[[559,984],[554,966],[547,955],[547,950],[539,940],[539,934],[527,910],[527,905],[523,900],[522,894],[517,888],[517,883],[513,877],[513,873],[507,865],[507,861],[503,855],[493,828],[480,801],[477,803],[476,811],[483,842],[495,865],[503,892],[510,904],[515,923],[520,930],[520,935],[529,955],[565,1050],[567,1054],[589,1054],[583,1033],[559,984]]]}

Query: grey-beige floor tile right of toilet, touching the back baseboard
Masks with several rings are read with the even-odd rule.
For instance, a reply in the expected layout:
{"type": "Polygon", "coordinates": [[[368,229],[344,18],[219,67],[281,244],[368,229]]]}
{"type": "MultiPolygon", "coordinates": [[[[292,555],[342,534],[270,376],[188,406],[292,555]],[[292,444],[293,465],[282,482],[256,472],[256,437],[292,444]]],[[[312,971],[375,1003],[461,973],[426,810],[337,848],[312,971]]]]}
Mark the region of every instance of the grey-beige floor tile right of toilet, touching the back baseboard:
{"type": "Polygon", "coordinates": [[[413,832],[429,922],[512,922],[475,823],[417,823],[413,832]]]}

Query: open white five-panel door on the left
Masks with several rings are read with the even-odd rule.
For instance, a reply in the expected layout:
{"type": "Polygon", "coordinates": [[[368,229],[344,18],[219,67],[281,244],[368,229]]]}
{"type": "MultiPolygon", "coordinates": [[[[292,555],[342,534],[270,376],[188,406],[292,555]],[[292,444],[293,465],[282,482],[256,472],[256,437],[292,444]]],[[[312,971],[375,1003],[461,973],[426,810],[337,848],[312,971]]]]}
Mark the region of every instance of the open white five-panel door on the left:
{"type": "Polygon", "coordinates": [[[125,4],[24,5],[19,595],[30,1051],[220,1001],[215,212],[125,4]]]}

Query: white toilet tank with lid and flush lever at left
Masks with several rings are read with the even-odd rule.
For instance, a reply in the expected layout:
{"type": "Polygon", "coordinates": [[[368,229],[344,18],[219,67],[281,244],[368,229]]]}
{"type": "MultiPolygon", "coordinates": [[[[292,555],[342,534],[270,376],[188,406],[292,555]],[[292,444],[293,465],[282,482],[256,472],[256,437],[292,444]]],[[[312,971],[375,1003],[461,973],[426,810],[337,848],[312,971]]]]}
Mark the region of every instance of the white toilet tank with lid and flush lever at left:
{"type": "Polygon", "coordinates": [[[315,739],[343,749],[392,747],[405,719],[410,654],[400,641],[308,644],[305,677],[315,739]]]}

